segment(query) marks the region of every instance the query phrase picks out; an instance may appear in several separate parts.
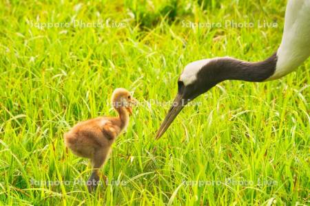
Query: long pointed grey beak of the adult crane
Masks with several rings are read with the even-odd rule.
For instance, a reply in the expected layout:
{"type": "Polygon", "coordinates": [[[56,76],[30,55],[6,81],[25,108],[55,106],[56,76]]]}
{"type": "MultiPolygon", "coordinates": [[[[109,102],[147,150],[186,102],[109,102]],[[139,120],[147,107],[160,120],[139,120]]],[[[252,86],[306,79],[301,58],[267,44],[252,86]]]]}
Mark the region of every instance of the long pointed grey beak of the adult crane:
{"type": "Polygon", "coordinates": [[[182,110],[182,108],[187,104],[187,101],[183,99],[183,96],[178,94],[176,95],[176,98],[174,99],[174,103],[170,107],[163,123],[161,124],[161,127],[158,129],[156,138],[159,139],[161,136],[165,133],[167,128],[172,124],[178,113],[182,110]]]}

